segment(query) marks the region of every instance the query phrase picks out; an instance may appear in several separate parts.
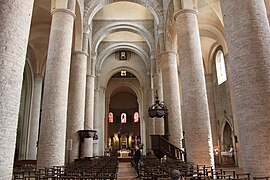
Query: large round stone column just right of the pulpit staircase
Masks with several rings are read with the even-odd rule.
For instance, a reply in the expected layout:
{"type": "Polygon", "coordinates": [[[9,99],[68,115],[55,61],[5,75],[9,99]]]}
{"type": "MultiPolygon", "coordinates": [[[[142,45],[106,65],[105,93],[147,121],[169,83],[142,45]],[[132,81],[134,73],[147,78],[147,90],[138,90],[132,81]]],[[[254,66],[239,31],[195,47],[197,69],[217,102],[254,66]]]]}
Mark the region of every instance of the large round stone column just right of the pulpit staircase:
{"type": "Polygon", "coordinates": [[[204,79],[197,12],[175,14],[183,97],[183,128],[187,160],[214,166],[213,144],[204,79]]]}

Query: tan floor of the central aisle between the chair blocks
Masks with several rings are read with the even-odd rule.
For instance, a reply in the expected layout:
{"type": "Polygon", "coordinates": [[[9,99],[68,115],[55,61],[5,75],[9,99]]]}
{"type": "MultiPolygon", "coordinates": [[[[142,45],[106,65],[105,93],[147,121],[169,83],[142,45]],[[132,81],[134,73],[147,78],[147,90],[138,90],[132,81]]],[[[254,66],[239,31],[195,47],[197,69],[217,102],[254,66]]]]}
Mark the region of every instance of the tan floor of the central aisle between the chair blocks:
{"type": "Polygon", "coordinates": [[[119,162],[117,179],[119,180],[136,180],[137,174],[130,162],[119,162]]]}

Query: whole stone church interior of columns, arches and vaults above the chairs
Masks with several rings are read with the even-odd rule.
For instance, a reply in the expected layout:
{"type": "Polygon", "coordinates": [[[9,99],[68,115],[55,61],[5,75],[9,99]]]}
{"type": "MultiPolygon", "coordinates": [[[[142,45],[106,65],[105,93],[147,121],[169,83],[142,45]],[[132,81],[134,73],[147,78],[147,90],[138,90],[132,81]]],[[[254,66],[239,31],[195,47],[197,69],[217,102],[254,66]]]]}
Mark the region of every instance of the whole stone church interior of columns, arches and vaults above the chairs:
{"type": "Polygon", "coordinates": [[[0,179],[136,139],[145,155],[152,135],[194,165],[270,176],[270,0],[6,0],[0,17],[0,179]]]}

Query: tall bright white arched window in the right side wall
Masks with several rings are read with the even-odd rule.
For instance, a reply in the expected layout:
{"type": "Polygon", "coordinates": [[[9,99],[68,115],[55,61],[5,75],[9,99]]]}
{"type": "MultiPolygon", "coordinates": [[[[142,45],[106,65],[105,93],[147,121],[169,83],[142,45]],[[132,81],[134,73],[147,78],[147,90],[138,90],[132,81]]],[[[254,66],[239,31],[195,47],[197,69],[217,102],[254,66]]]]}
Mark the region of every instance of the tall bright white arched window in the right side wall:
{"type": "Polygon", "coordinates": [[[216,71],[217,71],[218,85],[220,85],[227,80],[224,54],[221,50],[218,50],[216,54],[216,71]]]}

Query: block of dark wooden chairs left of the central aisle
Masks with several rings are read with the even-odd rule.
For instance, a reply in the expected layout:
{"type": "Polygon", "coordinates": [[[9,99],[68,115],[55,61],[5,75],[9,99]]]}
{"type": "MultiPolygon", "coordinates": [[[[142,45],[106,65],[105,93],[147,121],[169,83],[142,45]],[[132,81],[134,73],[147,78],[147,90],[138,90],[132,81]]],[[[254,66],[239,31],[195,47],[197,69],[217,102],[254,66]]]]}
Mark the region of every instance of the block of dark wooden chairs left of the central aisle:
{"type": "Polygon", "coordinates": [[[15,166],[14,180],[116,180],[118,171],[117,157],[96,157],[78,159],[66,166],[36,169],[27,163],[15,166]]]}

